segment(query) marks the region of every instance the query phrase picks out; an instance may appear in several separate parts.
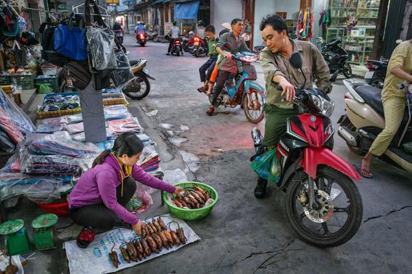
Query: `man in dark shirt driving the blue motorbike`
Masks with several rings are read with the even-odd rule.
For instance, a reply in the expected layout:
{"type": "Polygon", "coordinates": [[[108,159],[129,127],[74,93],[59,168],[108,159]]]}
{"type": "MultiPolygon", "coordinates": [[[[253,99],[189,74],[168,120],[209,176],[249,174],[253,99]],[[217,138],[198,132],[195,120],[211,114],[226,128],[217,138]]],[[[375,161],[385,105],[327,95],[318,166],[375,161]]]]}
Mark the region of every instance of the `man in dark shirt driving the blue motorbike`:
{"type": "Polygon", "coordinates": [[[222,58],[216,63],[216,66],[218,67],[218,79],[216,82],[216,88],[213,92],[211,106],[206,112],[207,115],[213,114],[214,108],[217,106],[218,96],[220,95],[220,92],[222,92],[225,82],[229,79],[229,77],[233,77],[233,75],[238,73],[238,64],[234,60],[231,60],[231,55],[241,53],[243,51],[249,51],[246,43],[240,36],[243,31],[242,19],[234,18],[231,21],[231,28],[232,31],[227,34],[223,34],[220,37],[218,45],[216,45],[216,51],[218,51],[218,53],[223,55],[225,58],[222,58]],[[230,45],[230,51],[225,48],[225,44],[230,45]]]}

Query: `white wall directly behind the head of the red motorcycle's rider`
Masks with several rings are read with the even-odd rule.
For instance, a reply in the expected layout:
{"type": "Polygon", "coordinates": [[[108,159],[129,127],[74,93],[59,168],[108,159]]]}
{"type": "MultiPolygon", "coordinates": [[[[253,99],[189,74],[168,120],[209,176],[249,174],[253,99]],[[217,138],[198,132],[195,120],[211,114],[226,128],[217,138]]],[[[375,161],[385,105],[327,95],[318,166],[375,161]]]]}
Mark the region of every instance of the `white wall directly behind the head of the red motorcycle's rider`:
{"type": "Polygon", "coordinates": [[[275,12],[287,12],[287,19],[297,19],[300,0],[255,0],[255,22],[253,30],[253,47],[262,45],[259,25],[262,18],[275,12]]]}

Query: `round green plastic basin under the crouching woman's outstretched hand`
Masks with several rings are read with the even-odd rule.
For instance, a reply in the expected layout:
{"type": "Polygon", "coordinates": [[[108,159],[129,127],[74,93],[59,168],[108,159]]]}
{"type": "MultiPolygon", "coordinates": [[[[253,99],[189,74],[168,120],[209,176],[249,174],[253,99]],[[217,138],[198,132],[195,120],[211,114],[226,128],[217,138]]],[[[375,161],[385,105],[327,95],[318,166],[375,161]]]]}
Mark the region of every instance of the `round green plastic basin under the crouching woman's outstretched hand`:
{"type": "Polygon", "coordinates": [[[172,213],[174,216],[176,216],[179,219],[193,221],[193,220],[204,218],[205,216],[209,215],[209,213],[214,208],[214,206],[216,205],[219,199],[218,192],[211,186],[208,186],[207,184],[198,183],[198,182],[181,182],[178,184],[174,184],[174,186],[180,186],[181,188],[185,188],[187,186],[198,186],[198,187],[203,188],[203,190],[206,190],[207,192],[209,192],[211,199],[214,199],[214,202],[205,208],[197,208],[197,209],[191,210],[191,209],[185,209],[185,208],[178,208],[177,206],[174,206],[174,204],[168,201],[168,196],[174,197],[174,194],[163,192],[162,198],[163,198],[163,201],[168,206],[170,213],[172,213]]]}

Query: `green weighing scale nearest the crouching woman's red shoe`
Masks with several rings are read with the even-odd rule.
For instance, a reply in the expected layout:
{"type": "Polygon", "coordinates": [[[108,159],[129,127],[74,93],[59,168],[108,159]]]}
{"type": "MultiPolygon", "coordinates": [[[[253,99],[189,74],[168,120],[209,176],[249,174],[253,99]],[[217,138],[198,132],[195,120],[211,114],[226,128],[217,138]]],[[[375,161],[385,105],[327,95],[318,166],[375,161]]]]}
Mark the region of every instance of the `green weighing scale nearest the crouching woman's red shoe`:
{"type": "Polygon", "coordinates": [[[45,250],[56,247],[53,240],[54,228],[52,226],[57,221],[58,216],[55,214],[43,214],[32,221],[34,249],[45,250]]]}

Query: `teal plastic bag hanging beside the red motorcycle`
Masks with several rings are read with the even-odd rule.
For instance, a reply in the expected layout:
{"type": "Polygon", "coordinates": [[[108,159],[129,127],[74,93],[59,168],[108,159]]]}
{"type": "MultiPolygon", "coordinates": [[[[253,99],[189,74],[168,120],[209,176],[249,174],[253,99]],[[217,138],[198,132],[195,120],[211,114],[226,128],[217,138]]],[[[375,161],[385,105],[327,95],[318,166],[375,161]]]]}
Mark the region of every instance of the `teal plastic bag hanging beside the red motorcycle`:
{"type": "Polygon", "coordinates": [[[251,162],[251,168],[259,177],[277,183],[279,181],[281,169],[277,161],[276,149],[260,154],[251,162]]]}

